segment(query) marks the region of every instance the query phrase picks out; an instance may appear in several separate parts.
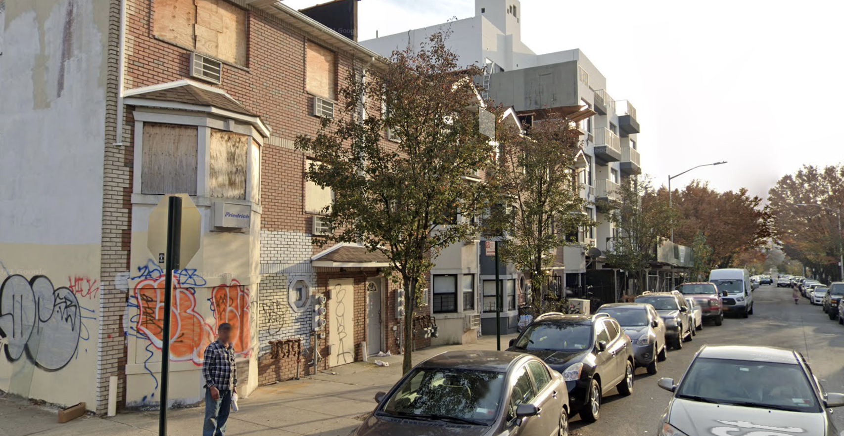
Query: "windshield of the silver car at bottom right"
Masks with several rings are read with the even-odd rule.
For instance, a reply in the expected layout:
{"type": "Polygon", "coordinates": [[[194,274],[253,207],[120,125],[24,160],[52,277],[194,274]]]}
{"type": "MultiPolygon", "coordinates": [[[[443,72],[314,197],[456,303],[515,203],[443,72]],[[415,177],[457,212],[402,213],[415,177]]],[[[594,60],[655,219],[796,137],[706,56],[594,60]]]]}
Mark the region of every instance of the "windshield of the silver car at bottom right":
{"type": "Polygon", "coordinates": [[[789,363],[697,358],[677,397],[794,412],[819,410],[803,369],[789,363]]]}

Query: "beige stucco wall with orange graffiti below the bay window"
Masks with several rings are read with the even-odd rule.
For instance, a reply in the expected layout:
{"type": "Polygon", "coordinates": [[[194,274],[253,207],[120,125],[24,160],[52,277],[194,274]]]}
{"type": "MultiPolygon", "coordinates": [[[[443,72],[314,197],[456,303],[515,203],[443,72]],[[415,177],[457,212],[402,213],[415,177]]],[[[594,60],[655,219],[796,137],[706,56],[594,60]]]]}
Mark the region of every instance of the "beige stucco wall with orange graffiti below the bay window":
{"type": "MultiPolygon", "coordinates": [[[[161,362],[163,266],[147,248],[149,213],[160,196],[136,196],[133,206],[132,266],[129,299],[124,315],[127,331],[127,406],[158,403],[161,362]]],[[[203,352],[214,341],[219,322],[235,327],[235,352],[252,375],[241,385],[241,396],[257,387],[257,295],[259,281],[260,215],[253,210],[251,229],[219,232],[212,229],[210,199],[197,199],[202,215],[199,251],[176,274],[170,342],[170,403],[193,404],[204,398],[201,374],[203,352]]],[[[175,283],[174,283],[175,284],[175,283]]],[[[246,371],[244,371],[245,373],[246,371]]],[[[241,381],[246,374],[240,374],[241,381]]]]}

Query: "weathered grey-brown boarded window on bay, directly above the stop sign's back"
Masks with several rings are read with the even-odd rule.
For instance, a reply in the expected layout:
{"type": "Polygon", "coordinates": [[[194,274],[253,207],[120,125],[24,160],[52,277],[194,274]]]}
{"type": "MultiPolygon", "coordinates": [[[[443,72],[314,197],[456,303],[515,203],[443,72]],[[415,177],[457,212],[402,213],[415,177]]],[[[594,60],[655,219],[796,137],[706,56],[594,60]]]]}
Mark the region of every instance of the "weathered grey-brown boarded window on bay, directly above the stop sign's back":
{"type": "Polygon", "coordinates": [[[141,192],[197,195],[197,127],[143,124],[141,192]]]}

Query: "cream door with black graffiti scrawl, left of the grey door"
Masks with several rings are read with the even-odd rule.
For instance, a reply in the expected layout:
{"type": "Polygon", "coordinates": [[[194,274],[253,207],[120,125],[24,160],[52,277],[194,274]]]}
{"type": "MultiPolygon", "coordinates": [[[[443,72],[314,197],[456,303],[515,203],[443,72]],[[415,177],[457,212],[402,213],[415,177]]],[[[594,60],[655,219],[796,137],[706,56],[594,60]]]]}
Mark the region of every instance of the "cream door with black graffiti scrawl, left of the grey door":
{"type": "Polygon", "coordinates": [[[328,366],[354,362],[354,280],[329,280],[328,345],[331,354],[328,366]]]}

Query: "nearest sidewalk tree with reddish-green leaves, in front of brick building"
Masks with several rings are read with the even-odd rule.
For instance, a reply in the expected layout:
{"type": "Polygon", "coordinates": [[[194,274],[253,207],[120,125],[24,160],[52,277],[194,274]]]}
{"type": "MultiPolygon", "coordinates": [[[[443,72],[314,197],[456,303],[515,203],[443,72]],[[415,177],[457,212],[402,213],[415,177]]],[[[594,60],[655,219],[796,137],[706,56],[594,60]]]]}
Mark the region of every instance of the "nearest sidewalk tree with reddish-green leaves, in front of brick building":
{"type": "MultiPolygon", "coordinates": [[[[496,197],[494,182],[467,177],[491,170],[495,158],[490,138],[479,132],[473,78],[483,71],[458,66],[446,36],[395,51],[376,74],[349,74],[338,114],[322,120],[316,137],[295,143],[320,163],[311,164],[307,178],[333,191],[324,211],[333,228],[327,240],[360,243],[387,257],[387,275],[406,295],[406,342],[431,259],[448,245],[475,239],[473,218],[496,197]],[[384,139],[387,132],[391,141],[384,139]]],[[[404,347],[405,372],[412,350],[404,347]]]]}

